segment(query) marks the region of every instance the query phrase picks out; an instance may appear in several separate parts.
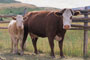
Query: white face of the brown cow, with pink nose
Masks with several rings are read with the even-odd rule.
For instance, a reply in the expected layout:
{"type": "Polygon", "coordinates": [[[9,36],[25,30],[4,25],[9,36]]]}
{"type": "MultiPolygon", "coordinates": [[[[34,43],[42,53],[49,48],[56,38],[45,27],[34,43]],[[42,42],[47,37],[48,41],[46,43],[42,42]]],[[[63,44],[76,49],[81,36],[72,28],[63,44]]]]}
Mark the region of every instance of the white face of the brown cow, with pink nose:
{"type": "Polygon", "coordinates": [[[72,12],[70,9],[66,9],[63,13],[63,29],[70,29],[72,22],[72,12]]]}

